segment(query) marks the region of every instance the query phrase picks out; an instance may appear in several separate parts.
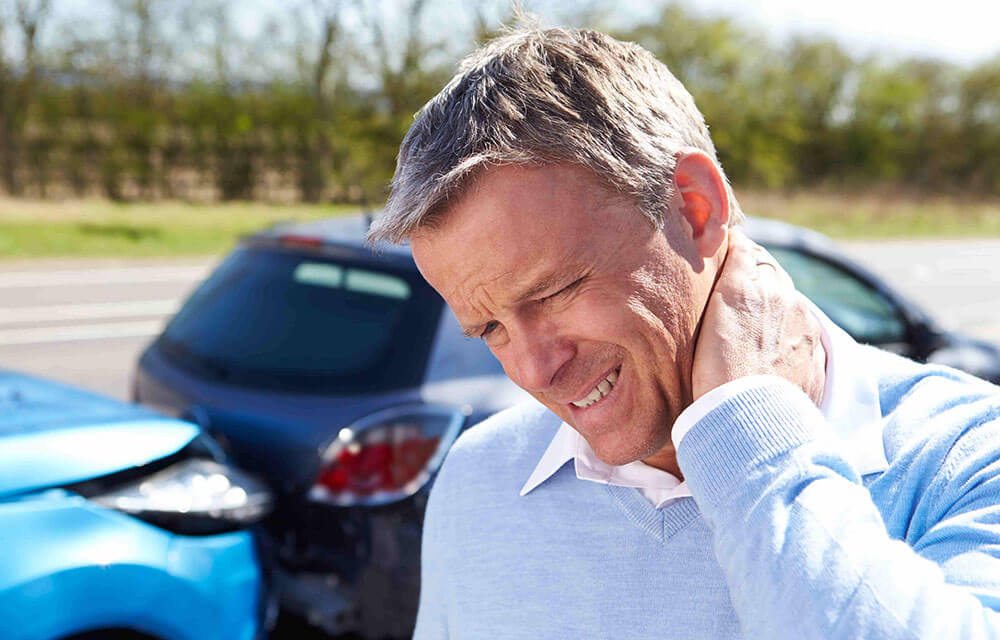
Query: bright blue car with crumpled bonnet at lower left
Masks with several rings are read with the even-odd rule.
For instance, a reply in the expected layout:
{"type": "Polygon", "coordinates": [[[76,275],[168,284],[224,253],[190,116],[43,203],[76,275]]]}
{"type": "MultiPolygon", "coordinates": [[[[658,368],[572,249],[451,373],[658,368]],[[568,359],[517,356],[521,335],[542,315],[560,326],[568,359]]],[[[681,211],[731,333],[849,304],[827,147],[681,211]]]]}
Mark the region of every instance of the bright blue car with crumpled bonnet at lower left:
{"type": "Polygon", "coordinates": [[[262,638],[270,506],[196,425],[0,371],[0,638],[262,638]]]}

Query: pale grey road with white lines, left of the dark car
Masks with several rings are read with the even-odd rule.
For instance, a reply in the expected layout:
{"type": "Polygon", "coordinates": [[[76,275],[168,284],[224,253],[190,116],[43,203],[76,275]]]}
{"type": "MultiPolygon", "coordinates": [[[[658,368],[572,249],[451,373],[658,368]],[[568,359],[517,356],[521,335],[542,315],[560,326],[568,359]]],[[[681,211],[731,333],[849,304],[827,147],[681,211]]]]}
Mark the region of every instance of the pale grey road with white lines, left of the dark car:
{"type": "Polygon", "coordinates": [[[213,264],[0,263],[0,367],[128,399],[142,349],[213,264]]]}

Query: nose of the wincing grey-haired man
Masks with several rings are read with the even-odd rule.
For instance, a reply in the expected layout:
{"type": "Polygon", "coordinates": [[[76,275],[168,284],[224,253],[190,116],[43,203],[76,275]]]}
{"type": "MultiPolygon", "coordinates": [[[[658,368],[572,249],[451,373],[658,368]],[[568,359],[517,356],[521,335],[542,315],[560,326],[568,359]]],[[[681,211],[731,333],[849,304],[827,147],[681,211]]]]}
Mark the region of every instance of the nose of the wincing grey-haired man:
{"type": "Polygon", "coordinates": [[[556,373],[573,359],[575,348],[551,326],[527,325],[519,329],[511,335],[508,375],[525,391],[547,391],[556,373]]]}

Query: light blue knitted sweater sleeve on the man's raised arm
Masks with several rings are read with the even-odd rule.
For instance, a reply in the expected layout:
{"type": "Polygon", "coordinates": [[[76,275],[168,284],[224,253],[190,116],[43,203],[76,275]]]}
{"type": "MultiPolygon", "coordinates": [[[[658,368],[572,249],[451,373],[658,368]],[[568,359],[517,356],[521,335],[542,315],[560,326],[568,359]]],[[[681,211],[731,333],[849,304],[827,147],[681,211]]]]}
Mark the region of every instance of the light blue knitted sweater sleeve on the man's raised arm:
{"type": "Polygon", "coordinates": [[[728,398],[678,447],[746,637],[804,640],[1000,638],[997,458],[907,469],[948,476],[911,547],[889,536],[822,414],[788,382],[728,398]]]}

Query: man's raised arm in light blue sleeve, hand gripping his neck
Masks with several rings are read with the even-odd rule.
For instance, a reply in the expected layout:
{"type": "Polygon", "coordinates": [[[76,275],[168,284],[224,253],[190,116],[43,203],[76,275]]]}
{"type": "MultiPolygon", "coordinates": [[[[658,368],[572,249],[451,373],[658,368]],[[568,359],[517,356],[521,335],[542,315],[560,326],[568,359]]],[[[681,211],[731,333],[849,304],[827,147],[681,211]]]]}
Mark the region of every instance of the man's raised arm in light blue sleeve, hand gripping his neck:
{"type": "MultiPolygon", "coordinates": [[[[723,400],[672,434],[746,634],[1000,638],[996,402],[947,412],[934,426],[950,440],[923,443],[932,455],[901,459],[869,493],[816,408],[825,355],[805,305],[773,258],[731,233],[692,366],[694,398],[718,388],[723,400]]],[[[945,385],[921,397],[959,396],[945,385]]],[[[928,406],[893,419],[920,425],[928,406]]]]}

